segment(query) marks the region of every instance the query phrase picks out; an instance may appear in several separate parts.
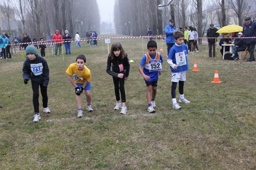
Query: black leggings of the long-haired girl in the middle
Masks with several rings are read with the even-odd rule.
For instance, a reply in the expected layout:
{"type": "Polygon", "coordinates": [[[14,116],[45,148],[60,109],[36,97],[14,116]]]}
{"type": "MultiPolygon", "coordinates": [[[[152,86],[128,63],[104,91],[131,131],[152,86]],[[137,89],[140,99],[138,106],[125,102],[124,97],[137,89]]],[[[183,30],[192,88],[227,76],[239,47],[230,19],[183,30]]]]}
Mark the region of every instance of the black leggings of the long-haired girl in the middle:
{"type": "Polygon", "coordinates": [[[116,101],[120,100],[120,93],[119,93],[119,89],[120,89],[122,102],[126,102],[125,91],[124,91],[124,77],[123,79],[120,79],[118,77],[117,78],[113,77],[113,82],[114,82],[114,88],[115,88],[115,100],[116,101]]]}

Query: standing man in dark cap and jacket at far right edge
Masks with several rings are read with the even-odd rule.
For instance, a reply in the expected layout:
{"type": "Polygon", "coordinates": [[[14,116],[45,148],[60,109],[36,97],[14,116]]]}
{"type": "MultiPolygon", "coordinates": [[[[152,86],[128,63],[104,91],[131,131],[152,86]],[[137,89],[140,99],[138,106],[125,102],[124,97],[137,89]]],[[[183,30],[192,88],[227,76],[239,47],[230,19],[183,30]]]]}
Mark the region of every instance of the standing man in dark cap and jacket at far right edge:
{"type": "Polygon", "coordinates": [[[247,50],[250,54],[250,58],[247,61],[255,61],[254,57],[254,48],[256,43],[256,22],[252,22],[250,17],[246,17],[243,26],[243,36],[248,37],[245,38],[247,50]]]}

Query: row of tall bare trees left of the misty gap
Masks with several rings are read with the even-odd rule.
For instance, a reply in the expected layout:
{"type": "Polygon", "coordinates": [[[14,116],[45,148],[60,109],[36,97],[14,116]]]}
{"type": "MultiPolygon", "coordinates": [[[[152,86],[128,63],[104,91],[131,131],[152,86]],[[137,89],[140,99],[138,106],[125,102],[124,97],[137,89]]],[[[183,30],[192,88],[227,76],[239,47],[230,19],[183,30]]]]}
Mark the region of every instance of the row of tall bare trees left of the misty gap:
{"type": "MultiPolygon", "coordinates": [[[[15,19],[6,14],[4,20],[17,20],[19,35],[46,37],[58,29],[71,35],[85,36],[87,31],[100,31],[100,15],[96,1],[90,0],[2,0],[3,6],[12,8],[15,19]],[[78,22],[76,22],[76,20],[78,22]],[[79,29],[79,30],[78,30],[79,29]],[[96,30],[97,29],[97,30],[96,30]]],[[[11,29],[11,28],[10,28],[11,29]]]]}

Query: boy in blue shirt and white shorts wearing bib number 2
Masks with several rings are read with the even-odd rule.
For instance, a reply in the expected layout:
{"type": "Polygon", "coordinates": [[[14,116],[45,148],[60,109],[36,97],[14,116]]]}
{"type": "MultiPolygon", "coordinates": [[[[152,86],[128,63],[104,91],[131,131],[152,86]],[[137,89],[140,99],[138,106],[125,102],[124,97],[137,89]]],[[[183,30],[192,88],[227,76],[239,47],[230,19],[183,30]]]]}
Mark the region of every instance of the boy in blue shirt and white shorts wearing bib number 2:
{"type": "Polygon", "coordinates": [[[167,63],[171,68],[171,98],[173,101],[174,109],[182,109],[180,105],[176,102],[176,87],[178,83],[178,91],[180,92],[180,103],[189,104],[190,101],[184,98],[183,86],[184,81],[186,81],[186,73],[185,71],[189,70],[189,63],[187,61],[187,54],[189,51],[187,50],[187,45],[183,43],[184,34],[181,31],[176,31],[175,33],[175,45],[171,48],[167,63]]]}

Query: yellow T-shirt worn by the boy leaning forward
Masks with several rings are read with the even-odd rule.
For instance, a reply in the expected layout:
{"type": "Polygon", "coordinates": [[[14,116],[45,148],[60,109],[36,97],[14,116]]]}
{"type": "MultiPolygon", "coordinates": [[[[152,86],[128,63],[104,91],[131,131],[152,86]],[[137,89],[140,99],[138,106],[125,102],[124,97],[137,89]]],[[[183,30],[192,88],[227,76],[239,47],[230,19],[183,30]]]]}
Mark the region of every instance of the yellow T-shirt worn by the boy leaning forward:
{"type": "Polygon", "coordinates": [[[88,82],[91,81],[92,77],[90,75],[90,70],[87,66],[83,66],[83,71],[78,70],[78,65],[76,63],[72,63],[66,70],[68,75],[72,75],[74,82],[83,84],[85,80],[88,82]]]}

